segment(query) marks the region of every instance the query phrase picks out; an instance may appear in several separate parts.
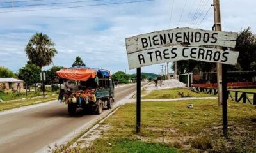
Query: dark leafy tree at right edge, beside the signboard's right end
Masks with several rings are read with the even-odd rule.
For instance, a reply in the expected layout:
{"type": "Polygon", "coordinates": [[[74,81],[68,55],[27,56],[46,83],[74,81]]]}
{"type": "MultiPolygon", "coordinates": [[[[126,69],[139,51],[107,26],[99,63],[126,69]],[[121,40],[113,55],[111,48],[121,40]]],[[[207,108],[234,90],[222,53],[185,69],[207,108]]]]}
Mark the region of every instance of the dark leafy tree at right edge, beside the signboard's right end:
{"type": "Polygon", "coordinates": [[[238,34],[235,50],[240,51],[238,63],[244,71],[255,69],[253,62],[256,62],[256,35],[250,27],[238,34]]]}

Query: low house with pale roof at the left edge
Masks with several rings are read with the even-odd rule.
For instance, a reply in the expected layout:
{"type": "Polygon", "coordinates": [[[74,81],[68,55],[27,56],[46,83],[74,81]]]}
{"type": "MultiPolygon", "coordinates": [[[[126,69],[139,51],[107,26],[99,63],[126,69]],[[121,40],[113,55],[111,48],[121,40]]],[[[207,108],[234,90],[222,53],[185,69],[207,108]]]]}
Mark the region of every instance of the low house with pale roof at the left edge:
{"type": "Polygon", "coordinates": [[[0,78],[0,89],[9,90],[17,89],[17,86],[20,85],[20,88],[23,88],[24,81],[18,80],[16,78],[0,78]]]}

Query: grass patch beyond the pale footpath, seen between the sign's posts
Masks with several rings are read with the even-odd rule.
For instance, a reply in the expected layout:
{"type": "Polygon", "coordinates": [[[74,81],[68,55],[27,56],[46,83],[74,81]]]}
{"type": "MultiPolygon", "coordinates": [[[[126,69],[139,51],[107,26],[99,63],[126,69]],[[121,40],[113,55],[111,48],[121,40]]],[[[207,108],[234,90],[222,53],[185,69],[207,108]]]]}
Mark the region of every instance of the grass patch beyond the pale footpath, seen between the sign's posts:
{"type": "Polygon", "coordinates": [[[142,99],[173,99],[173,98],[181,98],[178,92],[183,92],[184,96],[192,96],[192,97],[211,97],[212,95],[205,93],[196,93],[190,91],[186,88],[174,88],[174,89],[163,89],[163,90],[155,90],[150,92],[150,94],[143,96],[142,99]]]}

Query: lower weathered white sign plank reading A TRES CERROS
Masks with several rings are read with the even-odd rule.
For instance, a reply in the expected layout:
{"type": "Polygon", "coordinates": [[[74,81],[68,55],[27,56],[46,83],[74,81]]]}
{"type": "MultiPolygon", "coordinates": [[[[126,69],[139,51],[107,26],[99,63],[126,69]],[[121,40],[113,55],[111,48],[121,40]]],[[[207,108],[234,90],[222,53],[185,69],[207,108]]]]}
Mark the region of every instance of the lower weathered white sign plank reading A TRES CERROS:
{"type": "Polygon", "coordinates": [[[129,69],[163,62],[189,60],[236,64],[239,52],[213,48],[172,46],[128,54],[129,69]]]}

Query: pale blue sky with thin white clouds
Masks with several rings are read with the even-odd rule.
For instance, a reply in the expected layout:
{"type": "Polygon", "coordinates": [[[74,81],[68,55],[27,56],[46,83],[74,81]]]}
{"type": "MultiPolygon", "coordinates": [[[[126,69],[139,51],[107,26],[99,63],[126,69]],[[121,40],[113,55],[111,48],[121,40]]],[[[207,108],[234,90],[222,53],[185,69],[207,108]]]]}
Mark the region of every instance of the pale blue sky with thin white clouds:
{"type": "MultiPolygon", "coordinates": [[[[24,48],[37,32],[47,34],[58,50],[44,69],[68,68],[80,56],[88,67],[136,73],[128,68],[125,38],[175,27],[211,30],[214,23],[212,0],[19,1],[12,8],[12,0],[0,0],[0,66],[14,72],[28,61],[24,48]],[[61,7],[74,8],[44,10],[61,7]]],[[[256,1],[220,0],[220,5],[223,31],[239,32],[250,26],[256,33],[256,1]]],[[[142,71],[159,74],[161,68],[156,64],[142,71]]]]}

